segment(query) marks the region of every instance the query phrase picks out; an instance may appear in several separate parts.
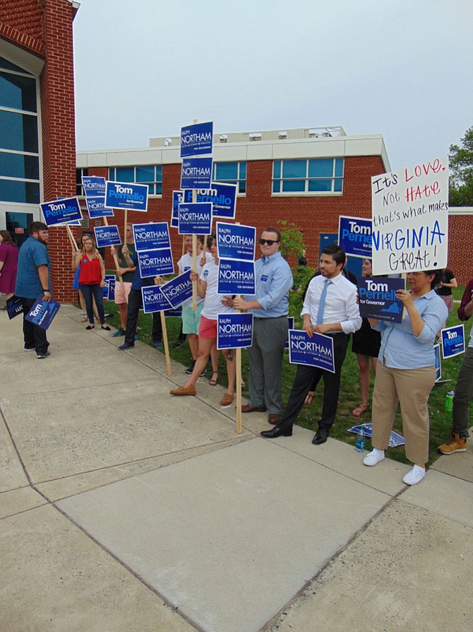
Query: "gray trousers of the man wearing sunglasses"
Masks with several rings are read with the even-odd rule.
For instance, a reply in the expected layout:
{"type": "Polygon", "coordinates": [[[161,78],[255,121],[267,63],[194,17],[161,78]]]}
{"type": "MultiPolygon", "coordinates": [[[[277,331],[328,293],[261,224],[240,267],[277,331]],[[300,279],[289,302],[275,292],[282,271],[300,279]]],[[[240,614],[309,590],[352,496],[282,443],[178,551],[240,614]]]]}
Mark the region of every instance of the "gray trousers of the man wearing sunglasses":
{"type": "Polygon", "coordinates": [[[249,403],[265,406],[270,413],[282,410],[282,356],[289,329],[287,316],[254,318],[250,365],[249,403]]]}

